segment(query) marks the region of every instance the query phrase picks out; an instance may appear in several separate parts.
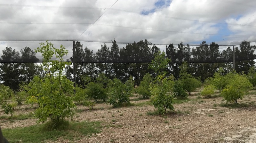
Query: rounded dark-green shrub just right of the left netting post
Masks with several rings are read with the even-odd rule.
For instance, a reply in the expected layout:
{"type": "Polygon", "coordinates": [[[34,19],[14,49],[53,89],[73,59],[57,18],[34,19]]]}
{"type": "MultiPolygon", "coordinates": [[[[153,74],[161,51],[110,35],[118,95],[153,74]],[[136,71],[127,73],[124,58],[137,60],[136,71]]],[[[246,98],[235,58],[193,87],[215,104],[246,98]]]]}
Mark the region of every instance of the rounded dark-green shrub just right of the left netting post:
{"type": "Polygon", "coordinates": [[[107,101],[108,95],[106,89],[103,88],[103,84],[90,82],[86,85],[85,94],[89,98],[93,98],[95,102],[99,100],[107,101]]]}

